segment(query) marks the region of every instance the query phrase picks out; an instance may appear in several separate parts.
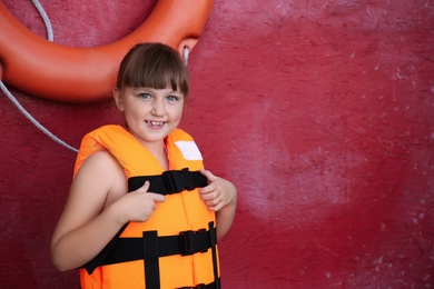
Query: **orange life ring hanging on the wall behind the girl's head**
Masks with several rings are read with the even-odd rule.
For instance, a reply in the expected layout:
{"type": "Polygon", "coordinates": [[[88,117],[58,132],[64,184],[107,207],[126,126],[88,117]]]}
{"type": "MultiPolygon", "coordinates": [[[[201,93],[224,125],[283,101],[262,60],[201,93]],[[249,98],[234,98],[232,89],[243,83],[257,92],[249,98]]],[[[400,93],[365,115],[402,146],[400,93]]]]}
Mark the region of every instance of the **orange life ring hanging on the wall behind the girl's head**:
{"type": "Polygon", "coordinates": [[[0,79],[21,91],[61,102],[90,102],[111,96],[119,62],[137,42],[189,49],[198,41],[214,0],[159,0],[146,21],[107,46],[71,48],[23,27],[0,1],[0,79]]]}

